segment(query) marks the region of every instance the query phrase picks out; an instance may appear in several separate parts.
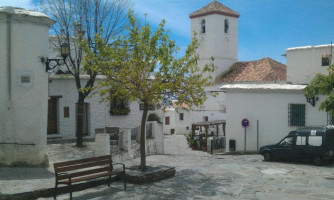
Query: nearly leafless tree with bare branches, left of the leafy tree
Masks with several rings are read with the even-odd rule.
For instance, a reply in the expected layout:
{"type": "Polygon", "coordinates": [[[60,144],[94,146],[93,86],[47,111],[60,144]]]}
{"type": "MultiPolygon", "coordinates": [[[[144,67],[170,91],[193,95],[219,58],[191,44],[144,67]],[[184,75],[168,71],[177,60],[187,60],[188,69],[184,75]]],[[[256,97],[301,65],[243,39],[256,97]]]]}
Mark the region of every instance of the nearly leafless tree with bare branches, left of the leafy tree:
{"type": "Polygon", "coordinates": [[[56,39],[52,47],[59,49],[61,43],[70,45],[70,54],[66,58],[66,73],[72,75],[78,92],[77,102],[77,144],[83,147],[84,100],[91,93],[97,72],[82,67],[83,50],[80,41],[86,42],[93,54],[97,53],[94,35],[99,34],[104,43],[121,33],[129,7],[128,0],[42,0],[41,9],[56,20],[52,27],[56,39]],[[101,32],[102,28],[104,32],[101,32]],[[88,75],[88,81],[82,82],[81,75],[88,75]]]}

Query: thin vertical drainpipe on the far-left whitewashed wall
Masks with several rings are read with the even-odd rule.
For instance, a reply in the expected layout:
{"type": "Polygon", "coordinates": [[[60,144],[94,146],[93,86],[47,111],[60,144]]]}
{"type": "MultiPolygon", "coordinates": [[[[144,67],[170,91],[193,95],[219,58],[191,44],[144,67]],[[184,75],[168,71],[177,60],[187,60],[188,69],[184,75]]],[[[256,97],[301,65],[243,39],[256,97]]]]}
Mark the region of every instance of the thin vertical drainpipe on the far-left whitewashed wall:
{"type": "Polygon", "coordinates": [[[12,16],[7,14],[7,77],[8,77],[8,110],[10,109],[10,103],[12,98],[12,16]]]}

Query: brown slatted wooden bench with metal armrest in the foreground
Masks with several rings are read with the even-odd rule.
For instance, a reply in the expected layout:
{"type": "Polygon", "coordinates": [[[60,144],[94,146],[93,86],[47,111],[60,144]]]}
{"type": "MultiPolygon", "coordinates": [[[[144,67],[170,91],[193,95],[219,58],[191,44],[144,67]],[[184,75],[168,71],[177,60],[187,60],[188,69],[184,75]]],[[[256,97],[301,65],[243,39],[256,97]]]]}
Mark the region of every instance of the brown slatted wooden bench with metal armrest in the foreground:
{"type": "Polygon", "coordinates": [[[72,199],[73,183],[108,177],[108,186],[110,187],[111,177],[114,175],[123,176],[124,190],[126,190],[125,165],[123,163],[112,163],[111,155],[59,162],[54,163],[53,166],[56,176],[55,199],[60,184],[69,186],[70,199],[72,199]],[[114,165],[123,165],[123,170],[114,170],[114,165]]]}

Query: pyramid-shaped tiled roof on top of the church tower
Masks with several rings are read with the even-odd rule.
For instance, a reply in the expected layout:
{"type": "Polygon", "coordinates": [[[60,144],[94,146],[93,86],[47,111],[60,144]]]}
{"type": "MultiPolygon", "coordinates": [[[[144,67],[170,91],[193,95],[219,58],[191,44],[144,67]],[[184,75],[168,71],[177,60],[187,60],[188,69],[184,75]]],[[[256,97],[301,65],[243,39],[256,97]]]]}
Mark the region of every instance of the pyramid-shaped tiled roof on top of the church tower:
{"type": "Polygon", "coordinates": [[[195,17],[201,17],[205,15],[210,15],[210,14],[220,14],[220,15],[226,15],[226,16],[236,17],[236,18],[240,16],[240,14],[235,12],[234,10],[224,6],[218,1],[213,0],[211,3],[204,6],[203,8],[191,13],[189,17],[195,18],[195,17]]]}

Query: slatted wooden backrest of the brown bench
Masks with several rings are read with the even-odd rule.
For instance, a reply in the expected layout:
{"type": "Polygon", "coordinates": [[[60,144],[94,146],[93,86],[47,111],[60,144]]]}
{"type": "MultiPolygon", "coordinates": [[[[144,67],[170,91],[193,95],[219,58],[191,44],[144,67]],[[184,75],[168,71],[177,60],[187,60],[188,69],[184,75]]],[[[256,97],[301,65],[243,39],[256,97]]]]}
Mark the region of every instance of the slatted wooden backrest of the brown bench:
{"type": "Polygon", "coordinates": [[[57,176],[58,173],[71,172],[73,178],[113,170],[111,155],[59,162],[53,166],[58,180],[68,178],[67,175],[57,176]]]}

